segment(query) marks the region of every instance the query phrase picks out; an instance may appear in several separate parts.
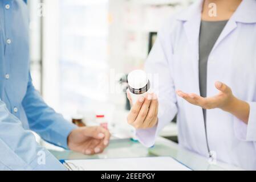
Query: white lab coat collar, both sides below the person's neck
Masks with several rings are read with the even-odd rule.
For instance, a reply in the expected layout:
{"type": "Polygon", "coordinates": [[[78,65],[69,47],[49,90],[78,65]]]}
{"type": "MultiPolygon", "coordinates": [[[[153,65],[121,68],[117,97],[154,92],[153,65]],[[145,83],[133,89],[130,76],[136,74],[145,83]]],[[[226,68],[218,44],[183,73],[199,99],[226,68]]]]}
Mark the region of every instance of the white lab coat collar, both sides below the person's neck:
{"type": "MultiPolygon", "coordinates": [[[[176,19],[188,21],[201,16],[203,2],[204,0],[197,0],[188,9],[178,13],[176,19]]],[[[241,23],[256,23],[256,0],[243,0],[231,19],[241,23]]]]}

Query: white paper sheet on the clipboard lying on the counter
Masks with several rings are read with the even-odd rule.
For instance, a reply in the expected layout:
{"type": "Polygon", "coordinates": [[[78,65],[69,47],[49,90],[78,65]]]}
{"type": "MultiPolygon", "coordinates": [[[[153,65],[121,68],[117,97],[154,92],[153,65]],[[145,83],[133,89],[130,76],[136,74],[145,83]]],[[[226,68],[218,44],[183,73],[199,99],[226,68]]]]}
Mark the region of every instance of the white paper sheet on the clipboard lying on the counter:
{"type": "Polygon", "coordinates": [[[66,160],[66,167],[79,171],[189,171],[170,157],[66,160]]]}

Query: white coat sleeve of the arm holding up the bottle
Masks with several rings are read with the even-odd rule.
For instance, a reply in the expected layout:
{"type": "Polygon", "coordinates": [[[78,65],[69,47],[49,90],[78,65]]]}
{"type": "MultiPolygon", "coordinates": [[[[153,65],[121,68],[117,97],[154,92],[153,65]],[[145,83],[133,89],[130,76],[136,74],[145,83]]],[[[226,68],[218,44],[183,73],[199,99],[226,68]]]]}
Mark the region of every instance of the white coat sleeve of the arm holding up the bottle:
{"type": "Polygon", "coordinates": [[[159,121],[157,126],[136,131],[136,137],[147,147],[155,144],[155,138],[159,131],[170,123],[177,113],[177,98],[169,65],[173,59],[172,45],[167,37],[167,32],[168,30],[165,28],[159,32],[145,64],[145,71],[151,75],[149,80],[153,92],[159,98],[159,121]]]}

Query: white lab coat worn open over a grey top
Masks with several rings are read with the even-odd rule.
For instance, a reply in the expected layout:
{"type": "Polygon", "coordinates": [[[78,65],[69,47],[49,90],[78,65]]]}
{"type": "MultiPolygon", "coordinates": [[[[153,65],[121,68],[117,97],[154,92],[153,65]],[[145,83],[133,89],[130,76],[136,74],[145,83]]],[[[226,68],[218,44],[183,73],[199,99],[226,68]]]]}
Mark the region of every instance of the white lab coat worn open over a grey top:
{"type": "MultiPolygon", "coordinates": [[[[159,123],[137,130],[140,142],[152,146],[155,137],[177,114],[181,147],[208,156],[202,108],[177,97],[175,90],[200,95],[198,36],[202,1],[169,19],[159,31],[146,71],[159,75],[159,123]]],[[[157,80],[157,79],[155,79],[157,80]]],[[[230,86],[235,97],[250,104],[249,123],[221,109],[207,110],[206,127],[217,160],[256,169],[256,1],[244,0],[227,22],[208,60],[207,96],[218,94],[214,82],[230,86]]],[[[154,83],[153,83],[154,85],[154,83]]]]}

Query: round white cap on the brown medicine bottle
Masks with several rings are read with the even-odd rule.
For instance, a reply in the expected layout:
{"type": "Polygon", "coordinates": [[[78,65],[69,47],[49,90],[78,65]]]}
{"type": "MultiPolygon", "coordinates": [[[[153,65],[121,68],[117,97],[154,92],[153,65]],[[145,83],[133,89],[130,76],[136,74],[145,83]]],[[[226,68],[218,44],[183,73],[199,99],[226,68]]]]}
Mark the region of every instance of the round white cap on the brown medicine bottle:
{"type": "Polygon", "coordinates": [[[133,89],[140,89],[148,84],[147,73],[141,69],[136,69],[129,73],[127,80],[129,86],[133,89]]]}

